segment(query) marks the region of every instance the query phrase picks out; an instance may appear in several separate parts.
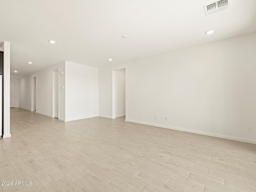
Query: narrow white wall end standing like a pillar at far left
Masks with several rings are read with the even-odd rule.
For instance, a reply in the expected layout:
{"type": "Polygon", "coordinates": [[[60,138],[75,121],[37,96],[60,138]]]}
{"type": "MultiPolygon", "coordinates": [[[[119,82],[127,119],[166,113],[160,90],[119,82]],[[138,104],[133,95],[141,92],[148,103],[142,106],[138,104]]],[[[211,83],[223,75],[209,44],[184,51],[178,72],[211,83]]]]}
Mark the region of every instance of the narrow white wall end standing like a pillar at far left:
{"type": "Polygon", "coordinates": [[[4,51],[4,133],[3,138],[10,137],[10,42],[2,45],[4,51]]]}

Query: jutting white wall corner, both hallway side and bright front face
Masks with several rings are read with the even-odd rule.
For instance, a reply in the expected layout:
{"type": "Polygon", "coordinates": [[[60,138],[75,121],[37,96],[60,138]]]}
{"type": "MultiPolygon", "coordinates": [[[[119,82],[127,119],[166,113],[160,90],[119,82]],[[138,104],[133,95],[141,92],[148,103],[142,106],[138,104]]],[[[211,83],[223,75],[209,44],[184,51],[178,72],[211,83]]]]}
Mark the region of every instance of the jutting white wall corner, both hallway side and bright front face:
{"type": "Polygon", "coordinates": [[[98,116],[98,68],[63,62],[20,79],[20,108],[32,110],[36,77],[36,113],[53,116],[52,72],[59,70],[59,119],[78,120],[98,116]],[[64,89],[62,89],[64,87],[64,89]]]}

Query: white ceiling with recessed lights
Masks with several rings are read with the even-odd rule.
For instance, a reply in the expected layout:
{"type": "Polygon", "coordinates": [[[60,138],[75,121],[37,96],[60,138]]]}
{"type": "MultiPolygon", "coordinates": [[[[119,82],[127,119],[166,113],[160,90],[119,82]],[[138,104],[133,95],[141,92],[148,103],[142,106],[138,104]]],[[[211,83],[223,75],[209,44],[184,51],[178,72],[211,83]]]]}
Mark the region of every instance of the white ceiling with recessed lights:
{"type": "Polygon", "coordinates": [[[0,40],[11,43],[11,77],[20,78],[65,60],[101,67],[256,32],[256,0],[206,16],[210,2],[1,0],[0,40]]]}

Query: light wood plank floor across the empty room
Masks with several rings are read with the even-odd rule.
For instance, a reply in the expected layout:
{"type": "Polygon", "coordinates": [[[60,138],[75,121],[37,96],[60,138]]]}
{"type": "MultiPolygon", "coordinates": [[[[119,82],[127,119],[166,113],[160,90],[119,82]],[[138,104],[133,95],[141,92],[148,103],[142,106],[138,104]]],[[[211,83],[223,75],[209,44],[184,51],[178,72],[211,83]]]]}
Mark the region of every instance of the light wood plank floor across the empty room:
{"type": "Polygon", "coordinates": [[[22,192],[255,192],[256,145],[124,122],[11,109],[2,186],[22,192]]]}

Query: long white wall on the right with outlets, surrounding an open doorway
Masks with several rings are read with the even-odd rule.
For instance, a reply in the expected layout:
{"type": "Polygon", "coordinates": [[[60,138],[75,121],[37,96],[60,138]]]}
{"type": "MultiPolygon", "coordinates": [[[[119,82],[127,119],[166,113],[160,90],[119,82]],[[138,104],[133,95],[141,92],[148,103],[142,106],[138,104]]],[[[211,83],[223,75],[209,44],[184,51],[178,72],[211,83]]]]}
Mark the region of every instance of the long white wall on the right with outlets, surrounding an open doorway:
{"type": "Polygon", "coordinates": [[[256,143],[255,50],[256,33],[100,68],[99,115],[126,68],[126,121],[256,143]]]}

